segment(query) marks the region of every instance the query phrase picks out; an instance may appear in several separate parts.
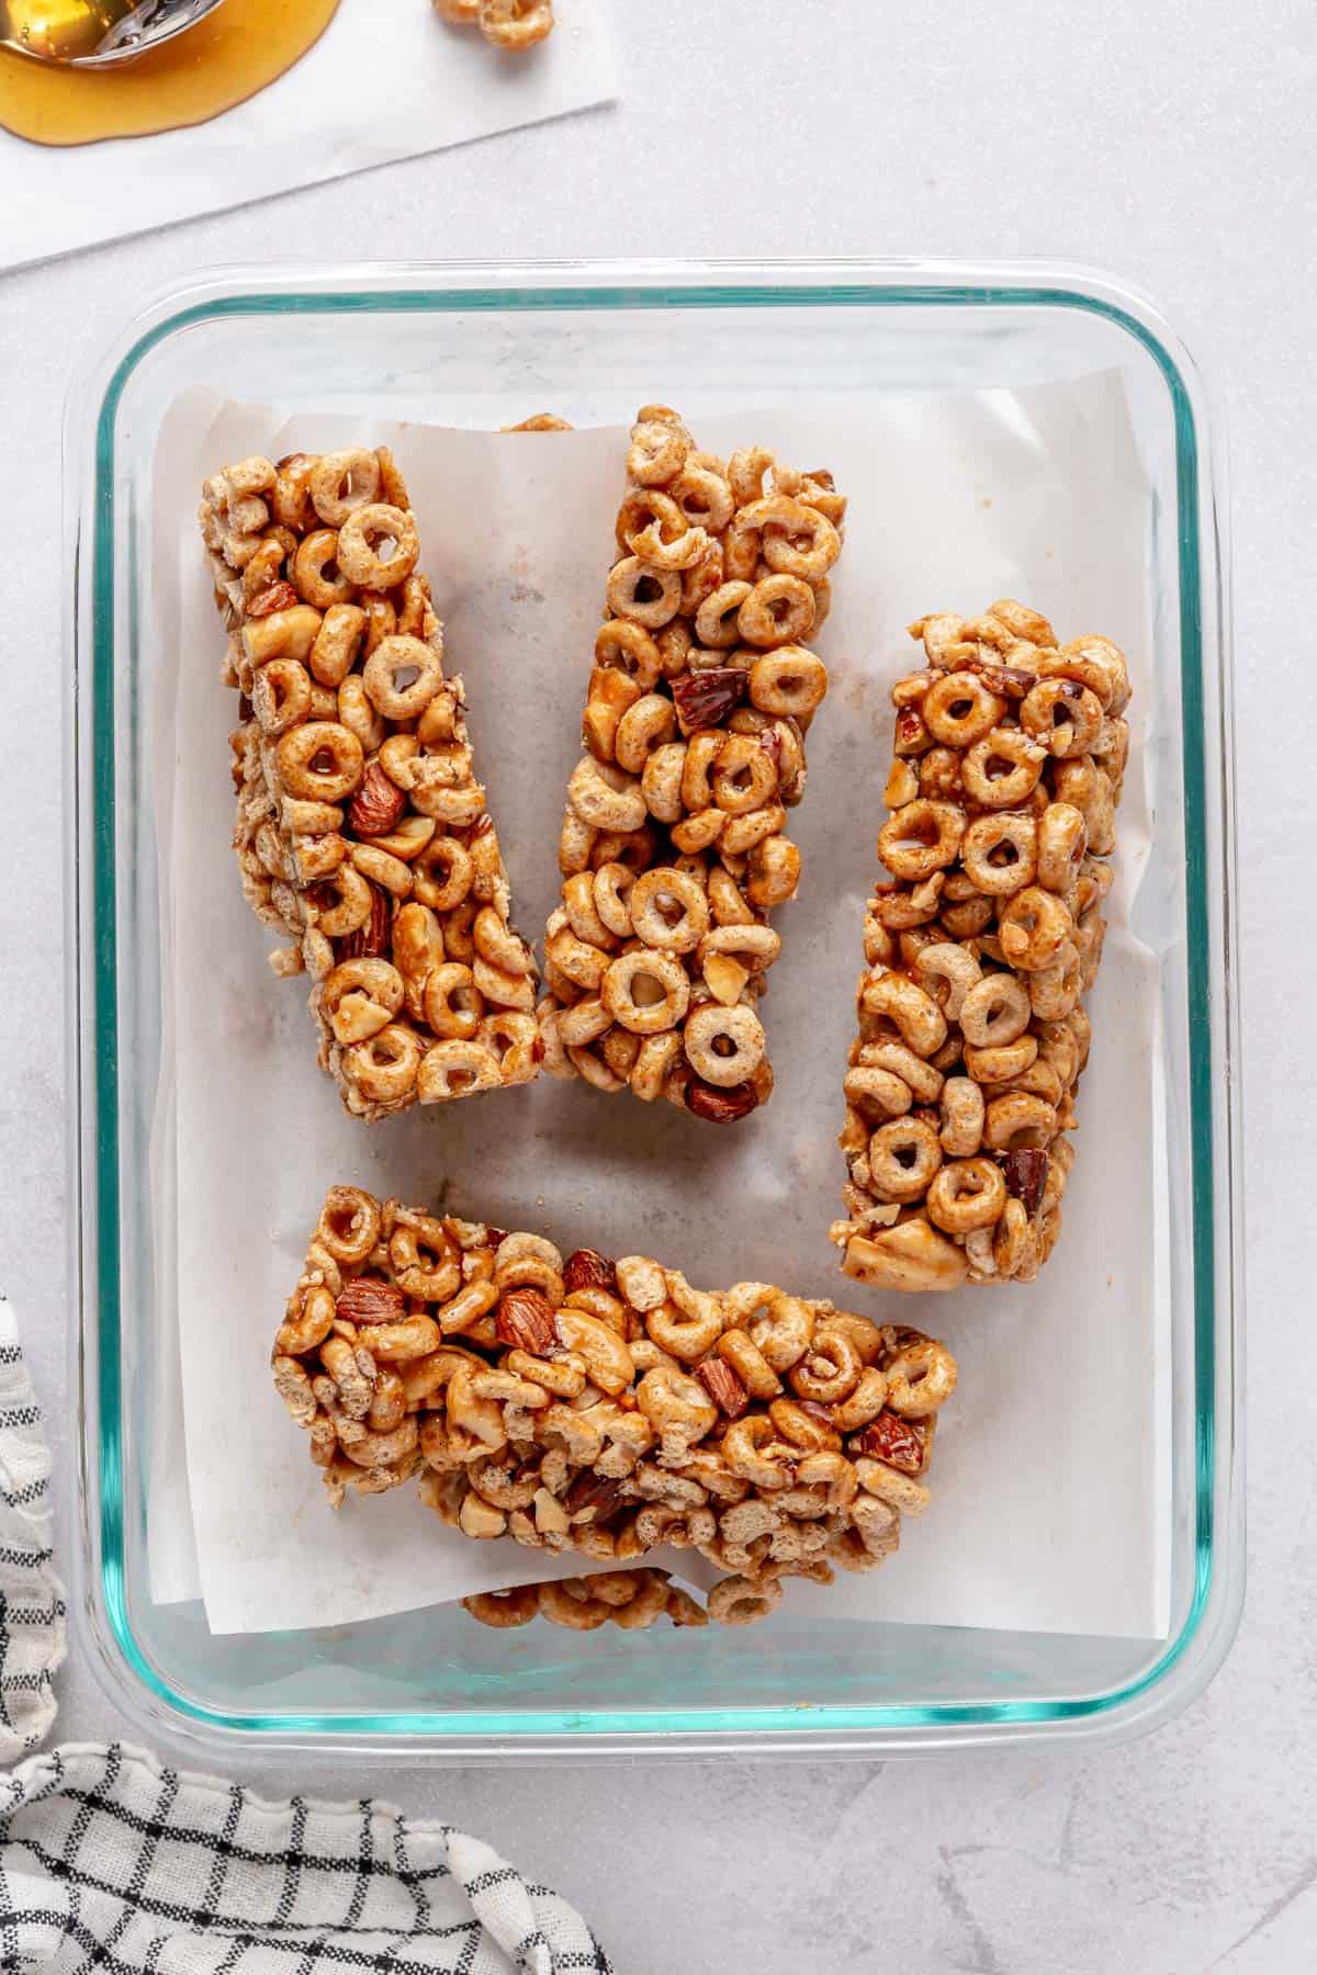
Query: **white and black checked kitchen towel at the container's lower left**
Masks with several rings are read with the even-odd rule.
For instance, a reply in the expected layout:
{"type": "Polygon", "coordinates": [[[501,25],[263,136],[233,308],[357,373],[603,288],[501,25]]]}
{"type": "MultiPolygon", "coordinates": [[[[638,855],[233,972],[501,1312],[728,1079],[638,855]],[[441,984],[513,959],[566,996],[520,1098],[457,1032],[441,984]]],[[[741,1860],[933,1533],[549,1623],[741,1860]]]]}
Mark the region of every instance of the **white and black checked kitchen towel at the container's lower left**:
{"type": "Polygon", "coordinates": [[[0,1302],[0,1969],[67,1975],[567,1975],[584,1920],[480,1839],[387,1803],[265,1803],[122,1744],[32,1750],[65,1604],[49,1454],[0,1302]]]}

